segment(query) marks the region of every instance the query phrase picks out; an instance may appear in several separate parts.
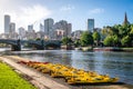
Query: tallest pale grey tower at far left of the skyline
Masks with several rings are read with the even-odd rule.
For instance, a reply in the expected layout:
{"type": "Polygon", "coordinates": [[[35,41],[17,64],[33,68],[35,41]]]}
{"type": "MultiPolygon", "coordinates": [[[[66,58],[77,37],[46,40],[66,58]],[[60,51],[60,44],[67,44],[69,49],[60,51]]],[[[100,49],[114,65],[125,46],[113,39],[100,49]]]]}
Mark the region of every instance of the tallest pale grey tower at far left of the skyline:
{"type": "Polygon", "coordinates": [[[9,33],[10,31],[10,16],[4,14],[4,33],[9,33]]]}

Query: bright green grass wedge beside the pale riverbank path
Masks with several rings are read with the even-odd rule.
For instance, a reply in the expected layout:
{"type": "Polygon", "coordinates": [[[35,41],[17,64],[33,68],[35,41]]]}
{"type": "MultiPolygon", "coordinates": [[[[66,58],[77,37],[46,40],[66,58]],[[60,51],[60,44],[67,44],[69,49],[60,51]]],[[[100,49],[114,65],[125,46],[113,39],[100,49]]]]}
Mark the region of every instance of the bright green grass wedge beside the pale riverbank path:
{"type": "Polygon", "coordinates": [[[0,62],[0,89],[37,89],[9,66],[0,62]]]}

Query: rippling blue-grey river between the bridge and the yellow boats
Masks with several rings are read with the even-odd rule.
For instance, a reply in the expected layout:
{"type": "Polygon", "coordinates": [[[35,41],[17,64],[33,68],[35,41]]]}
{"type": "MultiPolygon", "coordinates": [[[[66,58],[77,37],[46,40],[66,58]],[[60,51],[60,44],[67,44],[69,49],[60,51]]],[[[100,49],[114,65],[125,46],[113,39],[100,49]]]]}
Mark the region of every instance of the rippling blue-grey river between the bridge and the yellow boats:
{"type": "Polygon", "coordinates": [[[2,51],[4,55],[14,55],[29,58],[33,61],[69,65],[86,71],[96,71],[119,77],[120,82],[133,85],[133,52],[83,52],[78,50],[32,50],[32,51],[2,51]]]}

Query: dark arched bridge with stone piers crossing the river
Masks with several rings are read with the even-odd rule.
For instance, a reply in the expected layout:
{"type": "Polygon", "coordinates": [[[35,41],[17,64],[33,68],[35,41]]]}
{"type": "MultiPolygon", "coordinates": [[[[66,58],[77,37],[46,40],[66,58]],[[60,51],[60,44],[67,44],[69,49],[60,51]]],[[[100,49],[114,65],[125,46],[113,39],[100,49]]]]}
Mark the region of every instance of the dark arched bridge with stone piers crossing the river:
{"type": "Polygon", "coordinates": [[[32,44],[37,50],[44,50],[48,47],[61,47],[61,41],[59,40],[13,40],[13,39],[0,39],[0,43],[11,44],[12,51],[21,51],[21,46],[24,43],[32,44]]]}

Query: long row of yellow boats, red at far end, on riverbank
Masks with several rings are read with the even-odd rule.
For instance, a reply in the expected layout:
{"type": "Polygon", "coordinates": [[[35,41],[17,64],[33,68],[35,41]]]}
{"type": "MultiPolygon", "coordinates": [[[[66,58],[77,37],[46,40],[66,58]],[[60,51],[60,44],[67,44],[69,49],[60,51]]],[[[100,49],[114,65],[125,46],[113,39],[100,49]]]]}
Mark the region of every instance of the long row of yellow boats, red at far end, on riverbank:
{"type": "Polygon", "coordinates": [[[37,61],[19,61],[43,73],[49,73],[53,78],[64,78],[70,85],[74,83],[100,83],[100,82],[116,82],[119,78],[111,78],[109,75],[99,75],[94,71],[85,71],[73,67],[37,61]]]}

